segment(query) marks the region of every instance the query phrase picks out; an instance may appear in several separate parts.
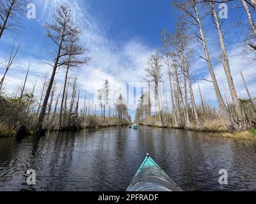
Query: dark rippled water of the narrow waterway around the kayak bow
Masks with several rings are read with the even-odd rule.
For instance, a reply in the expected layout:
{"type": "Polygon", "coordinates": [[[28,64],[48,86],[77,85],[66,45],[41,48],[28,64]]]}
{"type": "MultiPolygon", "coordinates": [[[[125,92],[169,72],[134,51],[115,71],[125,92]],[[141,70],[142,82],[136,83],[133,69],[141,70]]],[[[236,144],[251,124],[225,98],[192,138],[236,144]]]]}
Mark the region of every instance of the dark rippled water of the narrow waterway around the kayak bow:
{"type": "Polygon", "coordinates": [[[256,190],[256,149],[204,133],[140,127],[0,138],[0,191],[125,191],[146,153],[184,191],[256,190]],[[36,171],[28,186],[26,171],[36,171]],[[228,171],[228,185],[218,182],[228,171]]]}

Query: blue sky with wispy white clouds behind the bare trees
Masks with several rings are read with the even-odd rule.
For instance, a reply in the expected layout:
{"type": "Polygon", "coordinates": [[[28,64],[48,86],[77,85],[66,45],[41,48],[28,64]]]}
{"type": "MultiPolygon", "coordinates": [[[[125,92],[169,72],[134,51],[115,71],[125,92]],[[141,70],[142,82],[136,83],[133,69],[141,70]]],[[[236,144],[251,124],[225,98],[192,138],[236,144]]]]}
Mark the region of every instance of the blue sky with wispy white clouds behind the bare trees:
{"type": "MultiPolygon", "coordinates": [[[[19,68],[12,69],[8,73],[5,83],[6,92],[10,94],[15,92],[24,80],[29,62],[31,62],[31,72],[27,91],[31,90],[36,77],[38,78],[36,89],[40,91],[40,83],[42,84],[45,73],[51,72],[51,67],[42,62],[52,62],[56,47],[45,37],[43,26],[45,21],[51,21],[54,8],[60,4],[67,4],[72,8],[74,22],[83,30],[81,44],[90,50],[88,53],[92,58],[90,64],[73,70],[72,75],[78,75],[79,89],[83,94],[87,92],[91,98],[106,79],[109,79],[112,84],[119,82],[127,85],[127,83],[143,82],[148,57],[159,48],[159,32],[161,29],[167,29],[172,33],[177,21],[175,15],[177,11],[169,0],[34,0],[32,2],[36,5],[36,19],[24,18],[22,28],[17,33],[6,32],[0,40],[0,62],[8,57],[13,41],[17,44],[21,43],[22,46],[15,62],[19,68]]],[[[242,69],[250,91],[255,96],[256,87],[253,80],[253,76],[256,76],[255,63],[245,61],[241,56],[243,39],[246,35],[244,27],[248,25],[248,21],[241,9],[232,10],[231,4],[228,8],[228,19],[225,20],[223,29],[227,31],[225,41],[237,92],[240,97],[246,97],[239,76],[239,70],[242,69]],[[238,26],[237,20],[241,20],[242,25],[238,26]]],[[[212,26],[211,20],[206,18],[203,24],[216,77],[221,91],[224,92],[223,84],[227,87],[227,80],[222,65],[217,60],[220,54],[218,33],[212,26]]],[[[212,84],[198,80],[199,78],[211,79],[207,64],[199,57],[204,56],[202,47],[198,43],[193,43],[193,48],[196,53],[191,73],[194,79],[195,96],[199,98],[197,85],[200,84],[205,101],[216,105],[212,84]]],[[[2,68],[3,66],[0,65],[0,71],[2,68]]],[[[2,72],[0,77],[1,75],[2,72]]],[[[58,70],[56,75],[58,87],[61,87],[63,75],[63,70],[58,70]]],[[[166,77],[164,79],[166,91],[164,96],[170,103],[168,80],[166,77]]],[[[196,102],[199,103],[199,101],[196,102]]],[[[136,106],[129,106],[129,108],[134,117],[136,106]]]]}

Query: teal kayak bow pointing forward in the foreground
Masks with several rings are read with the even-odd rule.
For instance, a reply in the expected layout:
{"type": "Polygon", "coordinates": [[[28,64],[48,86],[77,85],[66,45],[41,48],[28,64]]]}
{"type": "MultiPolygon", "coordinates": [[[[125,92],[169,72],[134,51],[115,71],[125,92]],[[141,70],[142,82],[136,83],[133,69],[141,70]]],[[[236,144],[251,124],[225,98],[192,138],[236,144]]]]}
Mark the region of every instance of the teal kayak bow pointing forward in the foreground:
{"type": "Polygon", "coordinates": [[[147,154],[126,191],[182,191],[147,154]]]}

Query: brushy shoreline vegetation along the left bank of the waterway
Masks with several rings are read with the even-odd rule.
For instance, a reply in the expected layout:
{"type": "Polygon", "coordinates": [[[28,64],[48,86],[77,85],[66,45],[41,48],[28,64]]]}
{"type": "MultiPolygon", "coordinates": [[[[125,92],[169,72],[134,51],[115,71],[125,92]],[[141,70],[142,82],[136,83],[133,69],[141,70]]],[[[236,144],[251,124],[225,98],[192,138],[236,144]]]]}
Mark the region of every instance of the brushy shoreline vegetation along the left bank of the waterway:
{"type": "MultiPolygon", "coordinates": [[[[119,99],[122,100],[122,95],[119,99]]],[[[36,106],[36,103],[34,105],[36,106]]],[[[0,136],[35,135],[38,112],[29,98],[26,96],[23,98],[7,98],[0,95],[0,106],[0,136]]],[[[132,123],[124,104],[115,105],[113,110],[109,106],[108,117],[105,118],[97,112],[94,105],[84,106],[80,113],[74,113],[74,110],[76,112],[76,106],[72,106],[66,115],[63,115],[61,130],[58,128],[60,113],[56,110],[50,111],[44,120],[45,132],[129,126],[132,123]],[[85,110],[84,113],[83,110],[85,110]]]]}

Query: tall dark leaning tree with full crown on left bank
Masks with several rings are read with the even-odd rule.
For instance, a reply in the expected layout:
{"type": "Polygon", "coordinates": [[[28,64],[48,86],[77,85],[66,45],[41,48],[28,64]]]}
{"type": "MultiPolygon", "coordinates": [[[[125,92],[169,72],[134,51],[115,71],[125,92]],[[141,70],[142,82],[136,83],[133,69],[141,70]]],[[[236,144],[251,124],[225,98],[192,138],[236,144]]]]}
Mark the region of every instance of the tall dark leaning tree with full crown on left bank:
{"type": "Polygon", "coordinates": [[[72,13],[70,8],[68,8],[68,6],[60,6],[56,8],[56,13],[54,14],[53,19],[54,22],[52,24],[45,24],[45,30],[47,32],[47,36],[51,38],[51,40],[58,47],[58,51],[54,59],[54,64],[52,65],[47,63],[52,66],[52,75],[36,126],[36,133],[38,135],[42,134],[45,110],[47,107],[57,68],[59,68],[60,66],[68,66],[68,64],[71,67],[76,66],[81,62],[80,60],[77,61],[76,57],[84,54],[84,52],[81,53],[80,50],[73,50],[72,48],[70,48],[70,39],[77,38],[81,33],[79,27],[74,25],[74,22],[72,21],[72,13]],[[68,59],[70,55],[74,57],[72,57],[72,60],[69,61],[68,59]]]}

